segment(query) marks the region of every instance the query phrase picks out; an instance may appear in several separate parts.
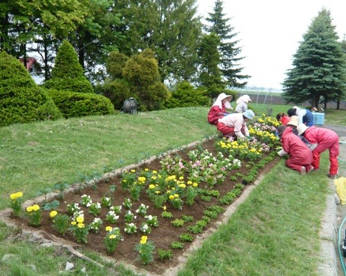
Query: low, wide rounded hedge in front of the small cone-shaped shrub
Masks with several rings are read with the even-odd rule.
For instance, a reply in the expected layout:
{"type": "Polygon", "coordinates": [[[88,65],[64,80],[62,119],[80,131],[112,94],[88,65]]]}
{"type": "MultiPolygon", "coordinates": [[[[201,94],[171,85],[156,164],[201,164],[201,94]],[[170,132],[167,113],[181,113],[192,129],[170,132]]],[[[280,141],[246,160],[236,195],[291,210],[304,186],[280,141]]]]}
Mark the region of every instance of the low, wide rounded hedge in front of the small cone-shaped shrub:
{"type": "Polygon", "coordinates": [[[106,115],[114,112],[111,101],[102,95],[53,89],[49,90],[49,94],[65,118],[106,115]]]}

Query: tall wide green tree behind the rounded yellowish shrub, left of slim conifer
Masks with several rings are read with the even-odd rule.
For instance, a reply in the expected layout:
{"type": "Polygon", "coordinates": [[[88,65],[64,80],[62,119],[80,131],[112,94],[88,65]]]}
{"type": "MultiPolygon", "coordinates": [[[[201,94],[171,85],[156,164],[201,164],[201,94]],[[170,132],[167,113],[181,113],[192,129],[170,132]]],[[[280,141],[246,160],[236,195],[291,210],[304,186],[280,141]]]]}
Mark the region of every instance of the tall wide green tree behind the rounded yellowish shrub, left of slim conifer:
{"type": "Polygon", "coordinates": [[[116,1],[123,15],[120,53],[131,56],[140,50],[155,49],[161,82],[191,80],[197,72],[197,45],[201,19],[195,0],[116,1]]]}

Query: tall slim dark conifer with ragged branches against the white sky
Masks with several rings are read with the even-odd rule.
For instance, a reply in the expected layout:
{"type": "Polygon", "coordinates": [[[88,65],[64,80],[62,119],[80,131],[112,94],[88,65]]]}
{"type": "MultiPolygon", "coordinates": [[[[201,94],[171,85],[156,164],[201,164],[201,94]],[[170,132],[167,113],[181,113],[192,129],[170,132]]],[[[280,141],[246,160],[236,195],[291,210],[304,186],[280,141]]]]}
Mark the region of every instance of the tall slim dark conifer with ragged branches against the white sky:
{"type": "Polygon", "coordinates": [[[215,1],[215,7],[213,12],[209,12],[209,17],[206,21],[210,22],[210,26],[204,26],[208,33],[215,33],[220,37],[219,54],[220,63],[219,68],[221,70],[222,78],[224,82],[231,87],[244,87],[246,85],[245,79],[250,77],[249,75],[242,75],[241,72],[244,69],[239,67],[239,62],[244,57],[238,57],[242,52],[242,49],[237,46],[239,40],[235,40],[237,33],[233,33],[234,27],[228,24],[229,18],[225,18],[223,13],[223,2],[221,0],[215,1]]]}

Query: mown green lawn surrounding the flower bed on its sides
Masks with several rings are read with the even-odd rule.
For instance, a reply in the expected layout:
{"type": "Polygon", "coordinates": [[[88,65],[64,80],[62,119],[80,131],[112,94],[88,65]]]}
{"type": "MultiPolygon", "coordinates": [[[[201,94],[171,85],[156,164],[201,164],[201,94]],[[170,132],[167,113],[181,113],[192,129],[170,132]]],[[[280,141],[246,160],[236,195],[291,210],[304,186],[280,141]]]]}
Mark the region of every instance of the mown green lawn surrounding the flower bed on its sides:
{"type": "MultiPolygon", "coordinates": [[[[268,108],[252,105],[256,114],[268,108]]],[[[273,106],[273,114],[286,109],[273,106]]],[[[12,192],[33,198],[59,181],[75,183],[80,175],[108,172],[212,136],[216,129],[206,123],[207,113],[208,108],[183,108],[1,127],[0,209],[8,207],[12,192]]],[[[331,118],[346,125],[345,111],[327,110],[326,120],[331,118]]],[[[327,193],[328,157],[323,154],[321,159],[320,171],[307,176],[284,167],[282,160],[179,276],[315,275],[327,193]]],[[[13,231],[0,224],[0,275],[84,275],[84,268],[96,276],[135,275],[94,252],[81,249],[103,268],[59,248],[39,246],[13,231]],[[64,271],[66,261],[75,264],[72,272],[64,271]]]]}

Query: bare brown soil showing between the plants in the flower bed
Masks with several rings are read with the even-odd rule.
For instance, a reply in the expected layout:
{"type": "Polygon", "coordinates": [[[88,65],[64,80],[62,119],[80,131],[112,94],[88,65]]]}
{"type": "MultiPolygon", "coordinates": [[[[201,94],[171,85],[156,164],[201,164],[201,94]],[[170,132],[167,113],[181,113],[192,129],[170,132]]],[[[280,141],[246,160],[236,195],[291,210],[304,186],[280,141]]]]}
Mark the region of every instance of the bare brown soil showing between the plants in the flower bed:
{"type": "MultiPolygon", "coordinates": [[[[214,146],[214,141],[210,140],[208,142],[203,142],[202,144],[204,149],[208,149],[208,151],[212,152],[213,154],[216,154],[215,146],[214,146]]],[[[190,150],[190,149],[189,149],[190,150]]],[[[186,156],[188,150],[184,151],[179,151],[174,154],[179,154],[181,158],[184,160],[189,160],[188,157],[186,156]]],[[[277,163],[277,159],[274,158],[271,163],[268,163],[261,171],[259,172],[260,174],[263,174],[265,172],[268,172],[275,164],[277,163]]],[[[159,171],[161,169],[161,164],[159,163],[159,160],[154,160],[151,163],[142,166],[147,167],[149,169],[156,169],[159,171]]],[[[245,165],[242,166],[242,168],[235,170],[235,172],[232,172],[230,176],[234,175],[236,172],[242,173],[244,175],[247,174],[248,169],[246,169],[245,165]]],[[[226,177],[226,181],[224,181],[223,184],[221,185],[215,185],[212,187],[212,190],[218,190],[220,192],[220,197],[224,196],[227,192],[230,192],[233,187],[235,186],[236,183],[242,183],[242,179],[237,179],[237,181],[230,181],[230,177],[226,177]]],[[[249,183],[248,185],[251,185],[249,183]]],[[[200,183],[199,187],[206,186],[206,183],[200,183]]],[[[80,197],[82,194],[88,194],[91,196],[91,199],[93,202],[101,202],[101,197],[103,195],[111,196],[113,198],[112,200],[112,205],[122,205],[124,202],[125,198],[130,198],[129,194],[127,192],[123,192],[121,185],[120,185],[120,176],[114,176],[113,178],[110,178],[107,181],[100,181],[97,185],[97,190],[93,190],[92,187],[85,187],[82,191],[79,192],[69,192],[64,196],[64,199],[60,200],[60,206],[57,208],[57,211],[59,213],[66,213],[66,205],[69,203],[79,203],[80,202],[80,197]],[[116,191],[111,192],[109,189],[110,185],[116,185],[116,191]]],[[[153,241],[154,245],[157,248],[163,248],[164,250],[169,250],[170,248],[170,243],[172,241],[180,241],[183,242],[179,239],[179,236],[183,233],[188,233],[192,234],[187,227],[194,225],[196,221],[200,220],[201,217],[203,217],[203,211],[206,210],[206,208],[210,205],[217,205],[218,199],[215,197],[212,197],[212,201],[207,202],[201,200],[199,197],[197,197],[196,202],[194,205],[191,207],[184,204],[183,205],[183,210],[176,210],[172,207],[170,204],[166,204],[167,206],[167,211],[172,212],[173,218],[172,219],[163,219],[161,217],[161,213],[163,212],[162,209],[158,210],[157,208],[154,208],[153,204],[149,199],[147,199],[147,196],[143,194],[143,196],[140,196],[140,201],[138,202],[133,202],[131,211],[135,213],[135,210],[138,208],[140,203],[144,203],[145,205],[149,205],[149,209],[147,210],[147,214],[152,214],[154,216],[157,216],[159,226],[152,227],[152,232],[148,234],[148,240],[153,241]],[[194,221],[185,223],[182,227],[175,227],[172,225],[171,221],[174,219],[181,219],[183,215],[188,215],[192,216],[194,218],[194,221]]],[[[228,205],[221,205],[224,208],[227,208],[228,205]]],[[[95,218],[92,214],[89,214],[87,208],[82,207],[82,210],[84,210],[84,219],[85,223],[91,223],[93,219],[95,218]]],[[[25,219],[21,218],[20,220],[14,220],[21,228],[30,228],[31,230],[43,230],[44,232],[48,234],[53,234],[56,237],[63,238],[67,241],[72,241],[75,242],[75,238],[71,234],[71,232],[67,232],[64,237],[62,237],[56,230],[53,230],[52,224],[51,224],[51,218],[49,217],[49,212],[50,211],[44,211],[42,214],[42,225],[39,226],[39,228],[30,228],[30,226],[27,226],[25,219]]],[[[185,243],[185,247],[183,250],[174,250],[172,249],[173,252],[173,258],[171,260],[165,260],[161,261],[161,259],[158,258],[157,253],[154,255],[154,263],[150,264],[148,266],[143,266],[140,264],[140,261],[138,261],[138,253],[134,251],[134,248],[137,243],[140,241],[140,237],[143,236],[143,233],[140,232],[139,226],[140,224],[145,221],[143,217],[140,217],[137,215],[136,218],[136,225],[138,226],[138,231],[136,234],[126,234],[124,232],[125,228],[125,221],[123,219],[123,215],[120,215],[120,219],[116,225],[111,225],[107,221],[105,221],[106,214],[108,212],[108,208],[102,208],[101,214],[98,216],[100,219],[103,221],[103,225],[101,227],[100,232],[98,234],[95,234],[91,232],[88,236],[88,243],[86,244],[79,244],[76,247],[84,246],[85,248],[89,250],[94,250],[96,252],[100,252],[102,255],[107,255],[107,252],[104,248],[103,244],[103,239],[106,236],[106,231],[104,228],[106,226],[112,226],[112,227],[118,227],[120,228],[122,232],[122,236],[124,237],[124,241],[120,241],[118,244],[116,251],[113,252],[113,254],[109,255],[108,257],[113,257],[116,261],[124,261],[127,264],[132,264],[138,268],[142,268],[147,270],[148,272],[151,273],[156,273],[156,274],[162,274],[165,272],[167,268],[174,267],[177,264],[179,264],[179,259],[178,257],[183,254],[184,250],[186,250],[191,243],[188,242],[183,242],[185,243]]],[[[122,208],[122,214],[124,214],[125,208],[122,208]]],[[[204,228],[204,231],[208,230],[212,225],[215,223],[215,219],[212,219],[210,223],[208,223],[208,226],[204,228]]],[[[48,236],[48,235],[47,235],[48,236]]],[[[194,238],[197,237],[197,234],[192,234],[194,238]]]]}

